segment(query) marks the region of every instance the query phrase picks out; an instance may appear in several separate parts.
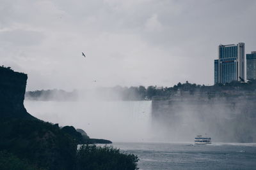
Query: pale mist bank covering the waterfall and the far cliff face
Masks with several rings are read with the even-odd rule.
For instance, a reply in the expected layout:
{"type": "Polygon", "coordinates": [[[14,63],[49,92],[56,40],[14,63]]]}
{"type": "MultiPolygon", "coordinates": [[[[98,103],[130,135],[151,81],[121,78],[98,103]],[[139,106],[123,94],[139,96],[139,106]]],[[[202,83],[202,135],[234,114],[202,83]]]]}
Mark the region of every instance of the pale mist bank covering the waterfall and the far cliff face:
{"type": "MultiPolygon", "coordinates": [[[[256,139],[252,130],[255,101],[248,96],[211,98],[195,93],[168,99],[153,97],[152,101],[123,101],[124,93],[116,87],[45,92],[36,101],[26,95],[28,112],[47,122],[83,129],[91,138],[193,143],[201,134],[213,142],[248,143],[256,139]],[[45,92],[49,93],[46,97],[45,92]]],[[[136,99],[138,94],[132,92],[129,99],[136,99]]]]}

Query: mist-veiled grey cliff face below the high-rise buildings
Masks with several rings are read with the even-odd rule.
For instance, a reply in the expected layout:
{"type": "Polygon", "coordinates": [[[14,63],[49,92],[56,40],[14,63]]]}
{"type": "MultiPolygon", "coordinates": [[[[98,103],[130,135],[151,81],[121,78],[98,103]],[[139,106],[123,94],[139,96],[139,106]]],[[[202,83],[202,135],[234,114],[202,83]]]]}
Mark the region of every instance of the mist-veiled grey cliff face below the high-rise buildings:
{"type": "Polygon", "coordinates": [[[193,142],[196,135],[203,135],[212,138],[212,142],[255,142],[254,102],[246,97],[184,97],[156,102],[152,113],[154,139],[193,142]]]}

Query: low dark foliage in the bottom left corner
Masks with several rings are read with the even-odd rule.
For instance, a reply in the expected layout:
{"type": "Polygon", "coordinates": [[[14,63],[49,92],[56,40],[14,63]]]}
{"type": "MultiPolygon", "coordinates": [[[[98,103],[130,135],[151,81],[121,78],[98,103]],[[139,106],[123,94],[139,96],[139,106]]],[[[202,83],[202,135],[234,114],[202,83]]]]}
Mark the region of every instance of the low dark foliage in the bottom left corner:
{"type": "Polygon", "coordinates": [[[25,160],[20,160],[12,153],[0,152],[0,169],[1,170],[42,170],[31,164],[28,164],[25,160]]]}

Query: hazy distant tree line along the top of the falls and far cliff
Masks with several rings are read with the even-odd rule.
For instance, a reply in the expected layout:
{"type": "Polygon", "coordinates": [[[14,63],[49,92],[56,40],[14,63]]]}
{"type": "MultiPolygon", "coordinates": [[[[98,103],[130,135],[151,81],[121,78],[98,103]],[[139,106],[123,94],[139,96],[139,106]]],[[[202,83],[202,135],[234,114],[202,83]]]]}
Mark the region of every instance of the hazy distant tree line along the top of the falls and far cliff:
{"type": "MultiPolygon", "coordinates": [[[[177,83],[173,87],[157,87],[148,86],[143,87],[108,87],[108,88],[98,88],[95,94],[100,94],[102,99],[110,100],[121,100],[121,101],[141,101],[141,100],[151,100],[153,97],[173,97],[186,95],[198,95],[198,96],[241,96],[244,94],[251,95],[256,94],[256,80],[251,80],[248,83],[241,83],[240,81],[232,81],[230,83],[216,84],[211,86],[196,85],[195,83],[177,83]]],[[[80,93],[84,93],[85,96],[87,92],[79,92],[74,90],[73,92],[65,92],[64,90],[36,90],[33,92],[26,92],[26,99],[30,100],[73,100],[79,96],[80,93]],[[58,95],[56,95],[58,94],[58,95]],[[62,96],[62,98],[60,97],[62,96]],[[61,98],[61,99],[60,99],[61,98]]],[[[83,96],[83,94],[81,95],[83,96]]],[[[97,96],[97,95],[96,95],[97,96]]],[[[90,98],[89,98],[90,99],[90,98]]]]}

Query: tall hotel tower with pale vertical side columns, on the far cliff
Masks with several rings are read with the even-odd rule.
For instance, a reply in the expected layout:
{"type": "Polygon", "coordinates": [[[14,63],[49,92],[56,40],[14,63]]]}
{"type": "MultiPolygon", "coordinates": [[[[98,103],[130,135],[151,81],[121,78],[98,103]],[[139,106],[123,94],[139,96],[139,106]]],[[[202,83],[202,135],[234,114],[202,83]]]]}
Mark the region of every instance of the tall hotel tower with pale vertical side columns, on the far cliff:
{"type": "Polygon", "coordinates": [[[244,43],[219,45],[218,55],[214,60],[214,84],[244,79],[244,43]]]}

